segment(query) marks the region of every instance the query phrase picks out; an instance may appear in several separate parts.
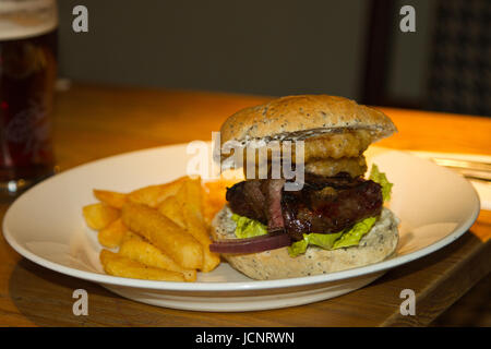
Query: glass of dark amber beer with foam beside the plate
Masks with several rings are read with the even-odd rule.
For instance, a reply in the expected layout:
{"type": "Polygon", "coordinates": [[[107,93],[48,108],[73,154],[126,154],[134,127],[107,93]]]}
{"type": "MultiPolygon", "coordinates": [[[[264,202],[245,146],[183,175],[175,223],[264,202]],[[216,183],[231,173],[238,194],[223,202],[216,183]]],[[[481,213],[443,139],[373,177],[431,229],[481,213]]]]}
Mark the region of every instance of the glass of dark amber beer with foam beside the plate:
{"type": "Polygon", "coordinates": [[[0,0],[0,197],[55,170],[56,0],[0,0]]]}

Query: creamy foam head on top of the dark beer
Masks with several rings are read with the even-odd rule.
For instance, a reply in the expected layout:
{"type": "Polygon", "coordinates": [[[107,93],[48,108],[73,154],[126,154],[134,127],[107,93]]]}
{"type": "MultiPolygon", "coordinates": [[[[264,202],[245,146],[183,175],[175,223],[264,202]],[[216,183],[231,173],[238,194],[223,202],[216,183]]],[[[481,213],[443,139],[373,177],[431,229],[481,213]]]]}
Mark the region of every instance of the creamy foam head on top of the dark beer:
{"type": "Polygon", "coordinates": [[[0,0],[0,40],[38,36],[57,26],[56,0],[0,0]]]}

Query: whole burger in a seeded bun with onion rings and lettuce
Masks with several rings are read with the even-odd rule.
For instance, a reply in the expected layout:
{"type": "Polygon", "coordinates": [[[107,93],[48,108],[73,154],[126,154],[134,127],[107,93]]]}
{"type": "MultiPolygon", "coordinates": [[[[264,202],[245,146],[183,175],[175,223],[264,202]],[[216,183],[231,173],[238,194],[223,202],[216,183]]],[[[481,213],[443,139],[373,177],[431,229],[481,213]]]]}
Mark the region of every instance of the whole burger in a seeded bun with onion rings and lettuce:
{"type": "Polygon", "coordinates": [[[294,167],[302,165],[302,185],[286,190],[297,178],[280,172],[260,179],[258,168],[247,166],[247,179],[227,188],[227,203],[212,221],[211,251],[253,279],[385,260],[398,242],[398,219],[384,207],[392,183],[376,165],[366,176],[363,152],[396,131],[383,112],[327,95],[287,96],[236,112],[221,125],[221,144],[236,142],[247,153],[252,144],[255,152],[272,142],[302,141],[302,164],[292,157],[294,167]]]}

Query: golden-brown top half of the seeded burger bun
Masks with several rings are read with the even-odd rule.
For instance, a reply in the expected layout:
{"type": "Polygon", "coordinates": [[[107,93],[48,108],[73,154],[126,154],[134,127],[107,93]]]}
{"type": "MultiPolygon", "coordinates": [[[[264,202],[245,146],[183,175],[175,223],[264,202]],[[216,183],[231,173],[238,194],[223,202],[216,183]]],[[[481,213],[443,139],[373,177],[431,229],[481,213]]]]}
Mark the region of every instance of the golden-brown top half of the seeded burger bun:
{"type": "Polygon", "coordinates": [[[327,95],[298,95],[242,109],[221,125],[221,144],[253,140],[308,139],[345,130],[368,130],[371,142],[397,131],[382,111],[351,99],[327,95]]]}

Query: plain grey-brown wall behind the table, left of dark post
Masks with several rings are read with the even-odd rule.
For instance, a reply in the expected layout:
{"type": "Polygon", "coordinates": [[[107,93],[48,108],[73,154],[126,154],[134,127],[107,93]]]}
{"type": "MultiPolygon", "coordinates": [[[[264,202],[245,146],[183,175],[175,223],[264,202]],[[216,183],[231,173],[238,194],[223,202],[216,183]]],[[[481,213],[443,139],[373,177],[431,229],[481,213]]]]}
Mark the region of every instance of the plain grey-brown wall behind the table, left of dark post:
{"type": "Polygon", "coordinates": [[[369,1],[62,0],[60,75],[75,81],[357,98],[369,1]],[[71,29],[84,4],[89,32],[71,29]]]}

